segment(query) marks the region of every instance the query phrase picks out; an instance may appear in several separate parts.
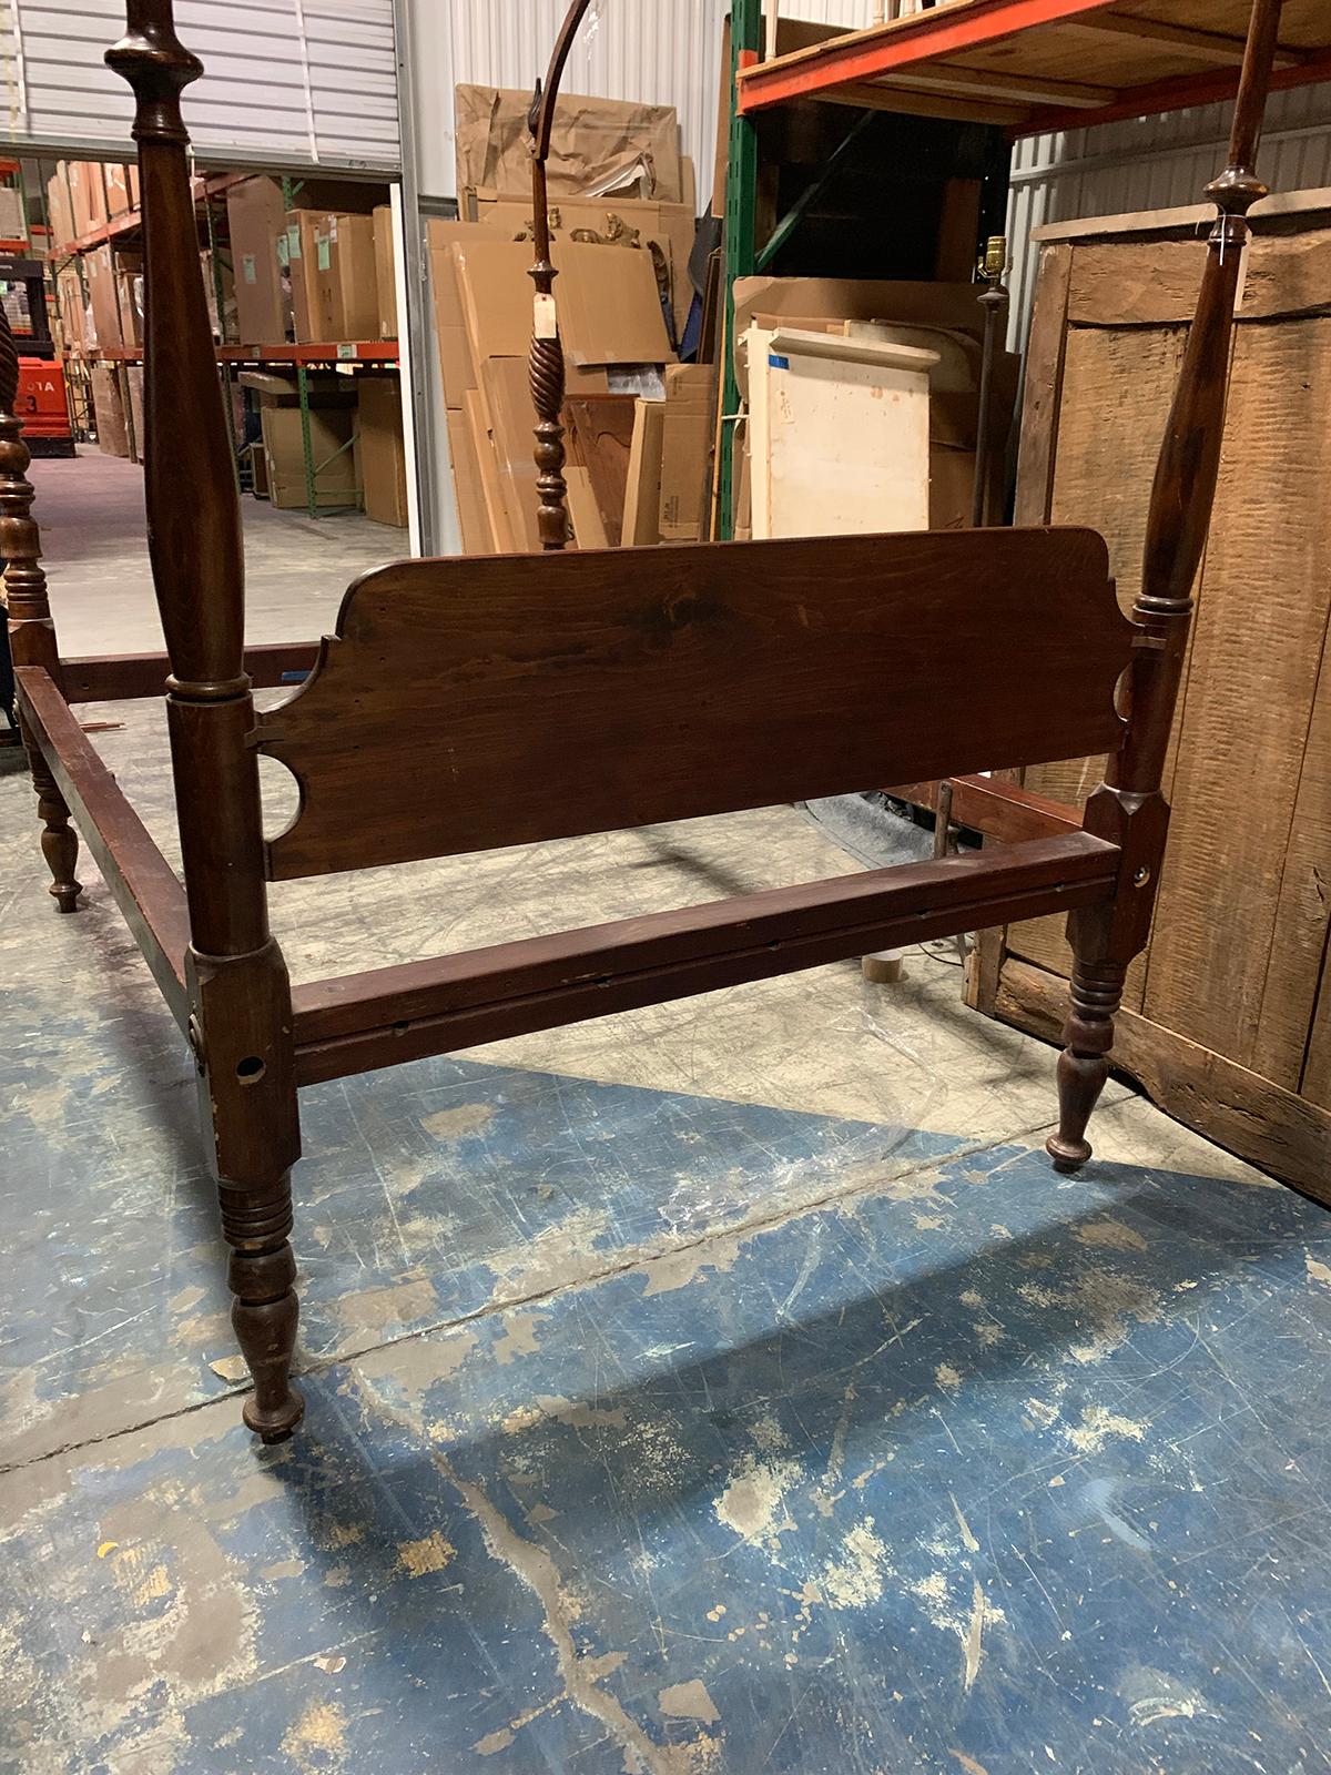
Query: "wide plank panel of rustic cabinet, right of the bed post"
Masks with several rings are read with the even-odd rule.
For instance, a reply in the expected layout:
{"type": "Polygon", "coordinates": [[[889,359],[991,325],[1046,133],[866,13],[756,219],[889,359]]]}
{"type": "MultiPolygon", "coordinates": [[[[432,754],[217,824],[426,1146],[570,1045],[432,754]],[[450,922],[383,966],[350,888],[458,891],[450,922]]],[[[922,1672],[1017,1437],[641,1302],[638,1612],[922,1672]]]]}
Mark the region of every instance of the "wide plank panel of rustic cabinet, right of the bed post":
{"type": "MultiPolygon", "coordinates": [[[[1329,410],[1331,320],[1239,334],[1143,1008],[1244,1067],[1269,960],[1281,951],[1280,992],[1290,969],[1317,976],[1326,939],[1317,891],[1283,896],[1281,875],[1331,611],[1329,410]],[[1278,928],[1281,912],[1297,923],[1278,928]]],[[[1306,992],[1267,1017],[1290,1085],[1301,1010],[1306,992]]]]}

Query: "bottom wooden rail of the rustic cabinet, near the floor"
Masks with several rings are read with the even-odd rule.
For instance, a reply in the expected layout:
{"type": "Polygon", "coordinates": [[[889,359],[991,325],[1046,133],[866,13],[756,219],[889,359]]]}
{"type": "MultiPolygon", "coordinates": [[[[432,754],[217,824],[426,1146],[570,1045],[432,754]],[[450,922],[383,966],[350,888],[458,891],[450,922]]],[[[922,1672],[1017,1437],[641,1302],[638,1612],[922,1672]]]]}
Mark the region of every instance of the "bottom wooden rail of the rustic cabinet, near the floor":
{"type": "MultiPolygon", "coordinates": [[[[996,1014],[1029,1035],[1058,1042],[1067,982],[1008,960],[996,1014]]],[[[1113,1063],[1175,1122],[1331,1203],[1331,1115],[1324,1108],[1130,1010],[1114,1019],[1113,1063]]]]}

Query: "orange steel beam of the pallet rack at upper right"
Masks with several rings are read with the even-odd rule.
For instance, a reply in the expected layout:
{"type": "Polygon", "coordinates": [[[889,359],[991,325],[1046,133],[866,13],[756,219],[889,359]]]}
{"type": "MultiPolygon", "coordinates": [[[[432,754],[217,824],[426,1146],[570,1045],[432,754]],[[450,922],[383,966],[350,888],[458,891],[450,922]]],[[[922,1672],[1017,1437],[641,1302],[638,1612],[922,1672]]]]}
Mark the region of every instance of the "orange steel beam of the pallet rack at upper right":
{"type": "Polygon", "coordinates": [[[813,98],[829,87],[875,80],[941,55],[978,50],[1022,30],[1058,25],[1113,4],[1114,0],[969,0],[964,5],[916,12],[886,30],[832,37],[831,43],[797,51],[797,57],[744,69],[738,76],[738,106],[747,115],[786,99],[813,98]]]}

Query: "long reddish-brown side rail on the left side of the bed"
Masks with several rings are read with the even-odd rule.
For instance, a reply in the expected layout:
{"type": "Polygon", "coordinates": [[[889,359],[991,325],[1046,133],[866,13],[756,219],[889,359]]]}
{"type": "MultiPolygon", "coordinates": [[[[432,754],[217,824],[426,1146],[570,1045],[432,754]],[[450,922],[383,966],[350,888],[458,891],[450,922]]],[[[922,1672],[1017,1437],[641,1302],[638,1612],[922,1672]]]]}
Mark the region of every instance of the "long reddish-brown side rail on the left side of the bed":
{"type": "Polygon", "coordinates": [[[190,1017],[185,992],[185,951],[190,944],[185,889],[50,674],[39,666],[20,666],[14,678],[27,733],[78,820],[83,843],[106,877],[176,1022],[185,1028],[190,1017]]]}

